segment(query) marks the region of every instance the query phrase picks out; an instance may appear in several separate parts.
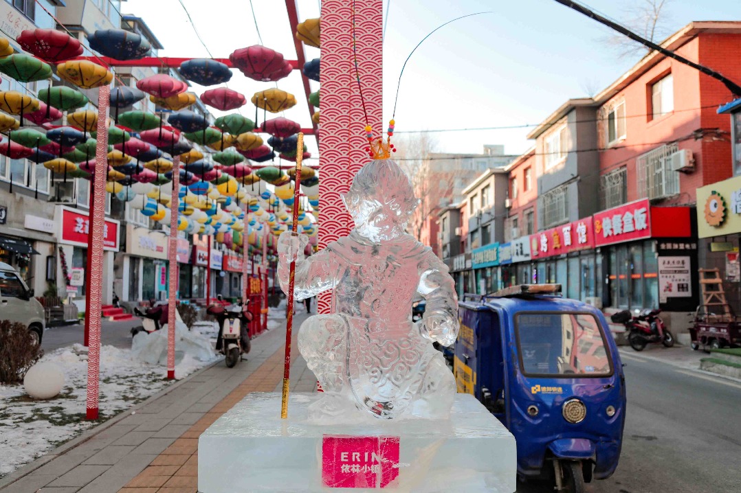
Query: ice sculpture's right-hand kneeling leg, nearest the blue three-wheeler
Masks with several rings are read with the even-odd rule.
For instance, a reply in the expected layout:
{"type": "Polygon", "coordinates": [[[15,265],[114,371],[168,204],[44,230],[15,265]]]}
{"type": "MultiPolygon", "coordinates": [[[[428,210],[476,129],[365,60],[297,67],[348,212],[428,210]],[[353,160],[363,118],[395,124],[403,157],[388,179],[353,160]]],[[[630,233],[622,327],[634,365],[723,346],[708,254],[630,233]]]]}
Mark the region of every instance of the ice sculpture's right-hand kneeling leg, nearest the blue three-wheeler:
{"type": "Polygon", "coordinates": [[[415,417],[427,419],[446,419],[451,412],[456,397],[456,379],[445,364],[442,354],[435,351],[428,363],[425,378],[419,392],[412,400],[410,409],[415,417]]]}

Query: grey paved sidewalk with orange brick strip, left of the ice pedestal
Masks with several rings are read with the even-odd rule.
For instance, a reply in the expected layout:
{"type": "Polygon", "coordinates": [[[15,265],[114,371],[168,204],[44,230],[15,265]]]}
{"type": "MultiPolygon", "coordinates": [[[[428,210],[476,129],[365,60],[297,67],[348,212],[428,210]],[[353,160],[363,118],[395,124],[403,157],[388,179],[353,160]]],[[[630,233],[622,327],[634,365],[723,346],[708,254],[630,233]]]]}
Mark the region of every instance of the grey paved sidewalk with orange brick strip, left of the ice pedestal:
{"type": "MultiPolygon", "coordinates": [[[[316,388],[295,342],[306,316],[294,319],[291,389],[299,392],[316,388]]],[[[248,393],[279,390],[284,352],[285,321],[253,341],[248,361],[229,369],[219,360],[196,372],[4,477],[0,491],[196,493],[199,435],[248,393]]]]}

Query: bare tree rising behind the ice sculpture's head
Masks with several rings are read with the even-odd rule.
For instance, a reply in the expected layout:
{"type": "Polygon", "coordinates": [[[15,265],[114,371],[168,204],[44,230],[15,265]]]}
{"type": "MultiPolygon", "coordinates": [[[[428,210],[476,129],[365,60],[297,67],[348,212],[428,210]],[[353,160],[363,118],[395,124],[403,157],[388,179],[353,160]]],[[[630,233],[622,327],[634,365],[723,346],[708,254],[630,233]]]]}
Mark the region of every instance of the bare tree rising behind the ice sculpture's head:
{"type": "Polygon", "coordinates": [[[394,158],[409,175],[419,206],[412,215],[409,228],[418,240],[428,220],[445,207],[453,197],[455,170],[445,170],[432,159],[436,142],[428,133],[413,134],[396,141],[394,158]]]}

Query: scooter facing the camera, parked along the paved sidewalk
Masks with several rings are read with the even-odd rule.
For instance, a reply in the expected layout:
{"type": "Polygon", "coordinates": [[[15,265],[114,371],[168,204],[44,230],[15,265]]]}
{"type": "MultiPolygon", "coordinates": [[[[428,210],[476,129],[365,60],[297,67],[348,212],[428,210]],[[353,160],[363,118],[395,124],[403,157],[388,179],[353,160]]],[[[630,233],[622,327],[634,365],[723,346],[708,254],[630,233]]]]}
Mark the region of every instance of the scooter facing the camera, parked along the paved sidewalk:
{"type": "Polygon", "coordinates": [[[235,303],[229,306],[214,303],[206,309],[206,313],[213,315],[219,323],[216,351],[225,355],[227,368],[236,365],[236,362],[242,359],[242,354],[246,355],[251,349],[247,327],[252,321],[252,313],[247,309],[247,303],[235,303]]]}

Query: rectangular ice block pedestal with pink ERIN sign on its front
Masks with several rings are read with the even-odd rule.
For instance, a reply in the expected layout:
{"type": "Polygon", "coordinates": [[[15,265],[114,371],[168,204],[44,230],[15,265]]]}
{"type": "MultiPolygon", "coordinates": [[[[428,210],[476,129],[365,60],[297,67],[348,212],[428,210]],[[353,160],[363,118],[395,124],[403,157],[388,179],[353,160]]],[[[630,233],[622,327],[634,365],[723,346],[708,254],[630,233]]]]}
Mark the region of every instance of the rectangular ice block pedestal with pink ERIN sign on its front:
{"type": "Polygon", "coordinates": [[[247,395],[199,438],[198,489],[233,492],[496,492],[516,489],[515,440],[472,395],[451,419],[310,423],[319,394],[247,395]]]}

